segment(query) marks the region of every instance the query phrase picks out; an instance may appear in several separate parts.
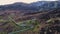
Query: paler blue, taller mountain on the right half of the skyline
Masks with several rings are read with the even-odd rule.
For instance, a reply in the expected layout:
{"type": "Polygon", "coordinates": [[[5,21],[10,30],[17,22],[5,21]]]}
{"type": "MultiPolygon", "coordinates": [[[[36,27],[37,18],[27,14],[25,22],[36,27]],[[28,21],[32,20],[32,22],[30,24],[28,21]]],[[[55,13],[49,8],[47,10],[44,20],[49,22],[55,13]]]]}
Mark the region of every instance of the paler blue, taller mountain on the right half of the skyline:
{"type": "Polygon", "coordinates": [[[41,10],[51,10],[53,8],[60,8],[60,2],[55,1],[55,2],[44,2],[44,1],[39,1],[39,2],[34,2],[31,3],[31,6],[36,7],[37,9],[41,9],[41,10]]]}

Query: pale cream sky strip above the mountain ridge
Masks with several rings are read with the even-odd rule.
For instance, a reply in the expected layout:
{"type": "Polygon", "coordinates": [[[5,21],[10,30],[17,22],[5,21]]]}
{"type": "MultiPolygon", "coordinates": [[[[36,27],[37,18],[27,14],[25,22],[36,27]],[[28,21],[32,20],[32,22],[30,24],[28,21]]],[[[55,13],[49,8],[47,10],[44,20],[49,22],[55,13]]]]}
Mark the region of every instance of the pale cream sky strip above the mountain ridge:
{"type": "MultiPolygon", "coordinates": [[[[31,3],[31,2],[36,2],[36,1],[42,1],[42,0],[0,0],[0,5],[12,4],[15,2],[31,3]]],[[[56,0],[45,0],[45,1],[56,1],[56,0]]]]}

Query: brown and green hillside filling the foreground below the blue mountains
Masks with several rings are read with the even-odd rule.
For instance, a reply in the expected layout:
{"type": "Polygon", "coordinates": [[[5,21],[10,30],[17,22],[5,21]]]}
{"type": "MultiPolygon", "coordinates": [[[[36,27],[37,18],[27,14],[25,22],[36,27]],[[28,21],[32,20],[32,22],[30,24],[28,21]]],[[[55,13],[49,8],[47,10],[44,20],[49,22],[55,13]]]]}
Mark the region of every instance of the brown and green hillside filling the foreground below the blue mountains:
{"type": "Polygon", "coordinates": [[[10,13],[0,15],[0,34],[58,33],[60,33],[60,10],[58,8],[18,17],[10,13]]]}

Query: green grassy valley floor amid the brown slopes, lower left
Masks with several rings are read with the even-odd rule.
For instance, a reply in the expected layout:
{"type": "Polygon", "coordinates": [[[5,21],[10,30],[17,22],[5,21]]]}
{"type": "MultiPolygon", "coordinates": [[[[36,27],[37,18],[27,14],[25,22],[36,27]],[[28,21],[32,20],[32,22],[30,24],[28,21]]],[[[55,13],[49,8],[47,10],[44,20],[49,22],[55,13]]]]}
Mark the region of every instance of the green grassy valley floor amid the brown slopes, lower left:
{"type": "MultiPolygon", "coordinates": [[[[8,20],[0,19],[0,23],[5,23],[5,25],[1,26],[1,28],[6,29],[7,27],[10,27],[10,26],[13,27],[12,31],[8,34],[16,34],[16,33],[24,32],[27,30],[37,31],[38,29],[37,26],[39,25],[39,22],[36,19],[26,20],[26,21],[16,23],[12,17],[8,16],[8,18],[9,18],[8,20]],[[23,24],[25,24],[25,26],[21,26],[23,24]]],[[[0,34],[7,34],[7,32],[8,31],[5,30],[3,32],[0,32],[0,34]]]]}

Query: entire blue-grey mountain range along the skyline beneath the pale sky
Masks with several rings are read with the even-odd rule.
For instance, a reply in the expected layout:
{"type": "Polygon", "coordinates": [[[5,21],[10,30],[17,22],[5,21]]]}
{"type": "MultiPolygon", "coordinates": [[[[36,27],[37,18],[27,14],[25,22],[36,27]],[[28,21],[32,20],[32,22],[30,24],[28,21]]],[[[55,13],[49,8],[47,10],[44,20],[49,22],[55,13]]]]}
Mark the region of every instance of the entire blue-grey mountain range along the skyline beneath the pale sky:
{"type": "Polygon", "coordinates": [[[1,5],[0,6],[0,10],[33,10],[33,11],[37,11],[37,10],[51,10],[53,8],[59,8],[60,7],[60,2],[58,1],[51,1],[51,2],[47,2],[47,1],[38,1],[38,2],[33,2],[30,4],[27,3],[22,3],[22,2],[17,2],[14,4],[10,4],[10,5],[1,5]]]}

